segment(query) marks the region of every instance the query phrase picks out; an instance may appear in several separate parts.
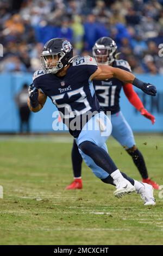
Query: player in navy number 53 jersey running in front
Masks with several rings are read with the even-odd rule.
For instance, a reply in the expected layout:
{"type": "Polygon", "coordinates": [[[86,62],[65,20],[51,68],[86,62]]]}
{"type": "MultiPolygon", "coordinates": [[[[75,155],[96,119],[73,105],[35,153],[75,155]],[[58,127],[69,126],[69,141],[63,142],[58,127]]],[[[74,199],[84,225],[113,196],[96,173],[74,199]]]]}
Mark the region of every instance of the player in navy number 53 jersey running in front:
{"type": "Polygon", "coordinates": [[[87,166],[99,179],[116,186],[114,195],[120,198],[136,191],[145,205],[154,205],[153,187],[121,173],[108,154],[105,142],[111,133],[111,122],[101,111],[92,80],[118,78],[153,96],[156,95],[155,86],[138,80],[126,70],[98,66],[90,56],[73,57],[72,45],[61,38],[49,40],[40,59],[42,69],[35,72],[29,87],[30,110],[40,111],[49,97],[57,106],[87,166]]]}

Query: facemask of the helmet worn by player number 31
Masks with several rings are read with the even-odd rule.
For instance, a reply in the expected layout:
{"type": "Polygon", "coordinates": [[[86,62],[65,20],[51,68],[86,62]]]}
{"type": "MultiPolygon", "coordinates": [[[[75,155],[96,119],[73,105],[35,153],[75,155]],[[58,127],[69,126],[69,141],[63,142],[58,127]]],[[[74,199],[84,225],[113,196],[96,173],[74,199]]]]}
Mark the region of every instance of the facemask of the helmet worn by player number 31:
{"type": "Polygon", "coordinates": [[[110,65],[114,62],[116,50],[117,46],[104,46],[98,44],[95,44],[92,48],[93,57],[95,57],[96,62],[103,65],[110,65]]]}

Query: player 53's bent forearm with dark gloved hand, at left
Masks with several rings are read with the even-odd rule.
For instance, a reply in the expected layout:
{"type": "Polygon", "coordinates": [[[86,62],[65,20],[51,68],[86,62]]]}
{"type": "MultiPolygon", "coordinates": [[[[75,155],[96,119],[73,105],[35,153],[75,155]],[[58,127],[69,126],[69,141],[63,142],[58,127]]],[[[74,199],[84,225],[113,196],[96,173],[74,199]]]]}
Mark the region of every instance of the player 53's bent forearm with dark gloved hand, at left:
{"type": "Polygon", "coordinates": [[[27,103],[30,111],[39,112],[43,108],[47,96],[41,93],[39,89],[35,88],[33,84],[29,86],[28,95],[27,103]]]}

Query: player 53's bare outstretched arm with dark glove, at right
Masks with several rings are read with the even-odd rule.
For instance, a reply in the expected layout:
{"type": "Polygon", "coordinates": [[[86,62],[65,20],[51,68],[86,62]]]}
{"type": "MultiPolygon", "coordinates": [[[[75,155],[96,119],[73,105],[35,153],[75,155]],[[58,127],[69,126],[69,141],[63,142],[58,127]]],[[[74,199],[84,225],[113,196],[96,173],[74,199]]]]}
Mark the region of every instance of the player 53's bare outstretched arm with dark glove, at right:
{"type": "Polygon", "coordinates": [[[153,86],[153,84],[144,83],[137,79],[132,73],[126,70],[113,68],[112,66],[98,65],[97,70],[90,77],[91,80],[106,80],[110,78],[117,78],[124,83],[131,83],[146,94],[152,96],[156,95],[156,87],[153,86]]]}

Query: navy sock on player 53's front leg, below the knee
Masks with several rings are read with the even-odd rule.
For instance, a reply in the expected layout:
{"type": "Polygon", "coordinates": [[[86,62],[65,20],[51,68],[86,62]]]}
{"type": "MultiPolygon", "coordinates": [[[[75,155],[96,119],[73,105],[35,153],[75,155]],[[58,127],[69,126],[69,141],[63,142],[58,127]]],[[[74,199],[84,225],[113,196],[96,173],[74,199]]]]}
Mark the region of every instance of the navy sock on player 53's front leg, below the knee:
{"type": "Polygon", "coordinates": [[[111,174],[118,169],[108,153],[95,143],[84,141],[79,145],[79,149],[87,156],[90,156],[97,166],[101,167],[105,172],[111,174]]]}

